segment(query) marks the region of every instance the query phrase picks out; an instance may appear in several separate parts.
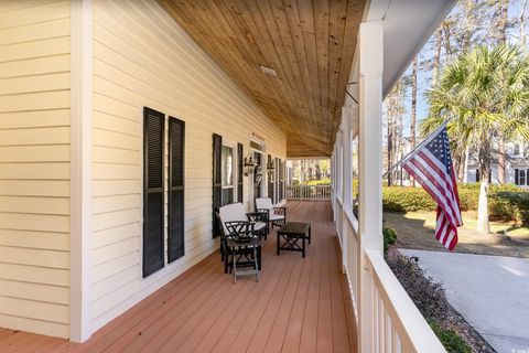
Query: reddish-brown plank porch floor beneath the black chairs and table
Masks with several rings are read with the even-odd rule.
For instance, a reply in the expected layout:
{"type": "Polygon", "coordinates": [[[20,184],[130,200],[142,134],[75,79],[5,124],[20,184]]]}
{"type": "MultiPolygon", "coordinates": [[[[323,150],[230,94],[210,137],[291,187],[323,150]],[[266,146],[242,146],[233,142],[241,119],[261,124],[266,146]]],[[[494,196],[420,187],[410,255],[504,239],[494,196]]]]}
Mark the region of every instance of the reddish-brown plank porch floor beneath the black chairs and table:
{"type": "Polygon", "coordinates": [[[0,329],[0,352],[355,352],[356,327],[326,201],[289,202],[312,223],[312,245],[276,256],[269,237],[260,282],[225,275],[218,254],[131,308],[84,344],[0,329]]]}

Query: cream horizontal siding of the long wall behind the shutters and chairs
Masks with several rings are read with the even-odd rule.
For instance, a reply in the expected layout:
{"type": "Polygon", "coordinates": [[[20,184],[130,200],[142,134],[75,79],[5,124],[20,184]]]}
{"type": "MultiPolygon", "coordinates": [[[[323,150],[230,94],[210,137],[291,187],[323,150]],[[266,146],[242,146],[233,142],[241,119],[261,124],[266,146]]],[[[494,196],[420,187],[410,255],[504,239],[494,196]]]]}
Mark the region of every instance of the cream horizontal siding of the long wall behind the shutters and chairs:
{"type": "MultiPolygon", "coordinates": [[[[104,325],[215,249],[212,135],[252,132],[284,159],[285,136],[154,1],[94,1],[93,325],[104,325]],[[185,121],[185,256],[141,277],[142,120],[185,121]]],[[[245,199],[249,205],[249,178],[245,199]]]]}

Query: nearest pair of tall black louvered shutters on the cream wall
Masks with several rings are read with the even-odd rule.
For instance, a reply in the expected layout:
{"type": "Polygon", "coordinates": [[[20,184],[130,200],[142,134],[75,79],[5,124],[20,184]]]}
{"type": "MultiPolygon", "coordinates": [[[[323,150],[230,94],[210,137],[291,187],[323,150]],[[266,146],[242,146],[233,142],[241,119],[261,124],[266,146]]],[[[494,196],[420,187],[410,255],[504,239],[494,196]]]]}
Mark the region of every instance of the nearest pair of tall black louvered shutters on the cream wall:
{"type": "Polygon", "coordinates": [[[143,277],[184,255],[184,121],[143,109],[143,277]]]}

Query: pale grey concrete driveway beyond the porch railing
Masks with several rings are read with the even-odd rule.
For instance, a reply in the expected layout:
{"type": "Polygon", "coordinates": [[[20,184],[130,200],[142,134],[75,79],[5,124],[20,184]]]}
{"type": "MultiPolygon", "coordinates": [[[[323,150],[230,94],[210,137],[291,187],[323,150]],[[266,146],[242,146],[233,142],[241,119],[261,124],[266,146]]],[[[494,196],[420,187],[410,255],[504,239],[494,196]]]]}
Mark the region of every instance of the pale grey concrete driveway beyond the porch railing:
{"type": "Polygon", "coordinates": [[[443,282],[449,302],[496,351],[529,352],[529,259],[400,252],[419,257],[419,266],[443,282]]]}

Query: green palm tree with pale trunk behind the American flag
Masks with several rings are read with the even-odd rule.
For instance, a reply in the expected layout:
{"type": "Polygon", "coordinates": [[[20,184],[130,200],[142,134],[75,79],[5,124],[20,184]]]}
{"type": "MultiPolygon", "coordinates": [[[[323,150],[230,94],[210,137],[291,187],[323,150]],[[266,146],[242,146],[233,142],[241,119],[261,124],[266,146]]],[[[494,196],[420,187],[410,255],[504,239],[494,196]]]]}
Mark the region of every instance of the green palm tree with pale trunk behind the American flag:
{"type": "Polygon", "coordinates": [[[477,231],[490,233],[488,173],[493,139],[529,138],[529,60],[516,46],[477,46],[446,65],[427,93],[430,114],[423,135],[450,119],[449,135],[455,152],[477,151],[482,185],[477,231]]]}

